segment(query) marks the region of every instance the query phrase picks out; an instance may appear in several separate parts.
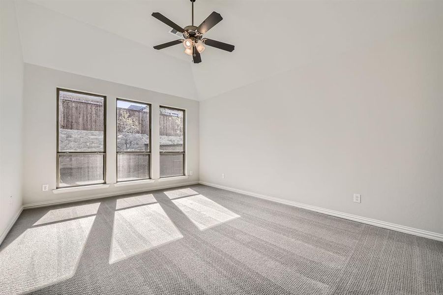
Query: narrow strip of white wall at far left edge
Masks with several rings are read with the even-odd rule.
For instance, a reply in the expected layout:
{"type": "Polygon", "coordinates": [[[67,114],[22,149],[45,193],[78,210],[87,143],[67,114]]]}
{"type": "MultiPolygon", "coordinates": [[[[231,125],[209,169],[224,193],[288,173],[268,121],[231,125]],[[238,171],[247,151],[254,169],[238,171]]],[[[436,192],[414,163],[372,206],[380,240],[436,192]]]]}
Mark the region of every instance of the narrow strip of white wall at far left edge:
{"type": "Polygon", "coordinates": [[[13,1],[0,1],[0,243],[22,206],[23,58],[13,1]],[[11,198],[12,196],[12,198],[11,198]]]}

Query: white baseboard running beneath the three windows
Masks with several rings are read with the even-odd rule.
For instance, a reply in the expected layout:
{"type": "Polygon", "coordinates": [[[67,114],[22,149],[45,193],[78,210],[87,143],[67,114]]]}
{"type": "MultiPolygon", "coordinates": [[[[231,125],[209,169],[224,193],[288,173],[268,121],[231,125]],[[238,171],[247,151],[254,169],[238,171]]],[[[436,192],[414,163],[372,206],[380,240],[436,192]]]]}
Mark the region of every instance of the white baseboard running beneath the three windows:
{"type": "Polygon", "coordinates": [[[30,209],[30,208],[38,208],[38,207],[47,207],[47,206],[53,206],[53,205],[59,205],[59,204],[65,204],[65,203],[73,203],[78,201],[87,201],[87,200],[94,200],[94,199],[101,199],[101,198],[107,198],[107,197],[114,197],[118,195],[127,195],[132,193],[141,193],[141,192],[149,192],[159,189],[165,189],[165,188],[173,188],[183,185],[191,185],[191,184],[197,184],[198,181],[193,182],[184,182],[184,183],[176,183],[176,184],[170,184],[170,185],[162,185],[157,186],[155,188],[139,188],[139,189],[133,189],[133,190],[125,190],[120,192],[112,192],[112,193],[103,193],[98,195],[89,195],[89,196],[82,196],[77,198],[71,198],[71,199],[64,199],[64,200],[56,200],[56,201],[48,201],[48,202],[41,202],[41,203],[33,203],[33,204],[27,204],[24,205],[24,209],[30,209]]]}

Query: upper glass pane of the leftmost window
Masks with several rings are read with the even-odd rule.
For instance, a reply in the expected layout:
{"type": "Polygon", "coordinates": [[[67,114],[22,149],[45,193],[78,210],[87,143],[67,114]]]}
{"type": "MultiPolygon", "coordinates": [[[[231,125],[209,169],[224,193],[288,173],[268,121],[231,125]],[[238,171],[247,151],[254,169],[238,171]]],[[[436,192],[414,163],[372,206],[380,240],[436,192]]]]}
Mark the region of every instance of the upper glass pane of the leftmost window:
{"type": "Polygon", "coordinates": [[[59,151],[104,151],[104,97],[59,91],[59,151]]]}

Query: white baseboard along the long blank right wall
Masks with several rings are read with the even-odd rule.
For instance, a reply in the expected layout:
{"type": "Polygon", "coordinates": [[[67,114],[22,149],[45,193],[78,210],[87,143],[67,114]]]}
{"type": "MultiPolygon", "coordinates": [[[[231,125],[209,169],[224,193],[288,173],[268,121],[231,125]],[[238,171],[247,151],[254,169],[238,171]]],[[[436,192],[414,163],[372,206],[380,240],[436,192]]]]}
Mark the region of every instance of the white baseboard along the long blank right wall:
{"type": "Polygon", "coordinates": [[[345,219],[349,219],[349,220],[354,220],[354,221],[358,221],[361,223],[370,224],[370,225],[382,227],[382,228],[397,231],[397,232],[402,232],[402,233],[406,233],[406,234],[410,234],[410,235],[414,235],[414,236],[422,236],[422,237],[427,237],[427,238],[438,240],[438,241],[443,241],[443,235],[438,234],[438,233],[414,229],[414,228],[410,228],[407,226],[398,225],[398,224],[394,224],[394,223],[390,223],[390,222],[385,222],[385,221],[381,221],[381,220],[376,220],[376,219],[357,216],[357,215],[353,215],[353,214],[343,213],[343,212],[339,212],[339,211],[329,210],[329,209],[325,209],[322,207],[306,205],[303,203],[298,203],[298,202],[294,202],[294,201],[270,197],[270,196],[266,196],[266,195],[262,195],[262,194],[252,193],[252,192],[248,192],[248,191],[244,191],[244,190],[240,190],[240,189],[236,189],[236,188],[232,188],[232,187],[228,187],[228,186],[223,186],[223,185],[214,184],[214,183],[208,183],[205,181],[200,181],[200,183],[204,184],[204,185],[212,186],[212,187],[217,187],[217,188],[233,191],[233,192],[240,193],[243,195],[261,198],[261,199],[265,199],[265,200],[269,200],[269,201],[273,201],[273,202],[277,202],[277,203],[282,203],[282,204],[286,204],[286,205],[290,205],[290,206],[294,206],[294,207],[298,207],[298,208],[303,208],[303,209],[307,209],[307,210],[311,210],[311,211],[316,211],[316,212],[320,212],[320,213],[324,213],[324,214],[328,214],[328,215],[332,215],[332,216],[336,216],[336,217],[341,217],[341,218],[345,218],[345,219]]]}

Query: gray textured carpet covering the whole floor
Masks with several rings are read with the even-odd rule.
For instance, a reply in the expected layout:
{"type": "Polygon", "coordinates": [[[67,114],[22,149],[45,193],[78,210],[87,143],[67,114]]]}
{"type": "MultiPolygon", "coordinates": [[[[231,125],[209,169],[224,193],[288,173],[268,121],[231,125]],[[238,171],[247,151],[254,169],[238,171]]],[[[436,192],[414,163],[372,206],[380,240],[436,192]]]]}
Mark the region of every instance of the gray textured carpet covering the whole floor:
{"type": "Polygon", "coordinates": [[[443,242],[204,185],[25,210],[0,294],[443,294],[443,242]]]}

